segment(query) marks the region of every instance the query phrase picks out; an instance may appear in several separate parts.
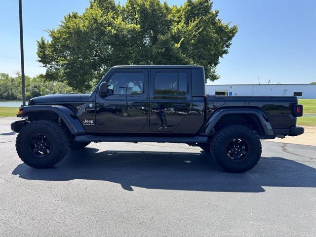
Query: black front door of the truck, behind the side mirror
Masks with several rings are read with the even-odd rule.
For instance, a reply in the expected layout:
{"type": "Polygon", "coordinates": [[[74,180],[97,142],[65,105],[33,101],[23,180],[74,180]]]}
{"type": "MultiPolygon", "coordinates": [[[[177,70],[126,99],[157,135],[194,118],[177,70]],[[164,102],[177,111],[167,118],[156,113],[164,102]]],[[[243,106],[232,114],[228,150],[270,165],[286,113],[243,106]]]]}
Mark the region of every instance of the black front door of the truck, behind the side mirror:
{"type": "Polygon", "coordinates": [[[141,131],[148,120],[148,69],[114,70],[108,94],[96,95],[96,126],[107,132],[141,131]]]}

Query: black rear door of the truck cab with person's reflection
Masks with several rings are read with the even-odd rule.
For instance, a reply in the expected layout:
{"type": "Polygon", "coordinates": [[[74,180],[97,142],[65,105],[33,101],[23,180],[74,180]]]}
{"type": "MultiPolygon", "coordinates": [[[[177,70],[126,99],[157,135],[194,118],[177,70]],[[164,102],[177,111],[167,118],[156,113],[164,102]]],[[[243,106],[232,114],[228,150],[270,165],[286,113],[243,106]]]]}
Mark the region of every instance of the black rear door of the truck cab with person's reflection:
{"type": "Polygon", "coordinates": [[[174,131],[191,105],[191,69],[150,70],[150,130],[174,131]]]}

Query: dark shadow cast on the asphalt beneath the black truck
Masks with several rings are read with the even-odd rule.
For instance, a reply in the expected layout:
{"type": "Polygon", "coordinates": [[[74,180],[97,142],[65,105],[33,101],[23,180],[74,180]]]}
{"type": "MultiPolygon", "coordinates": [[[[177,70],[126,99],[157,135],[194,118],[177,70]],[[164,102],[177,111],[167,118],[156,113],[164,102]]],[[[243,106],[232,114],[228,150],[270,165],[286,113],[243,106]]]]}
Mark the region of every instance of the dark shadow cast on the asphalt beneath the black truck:
{"type": "MultiPolygon", "coordinates": [[[[314,162],[314,161],[310,161],[314,162]]],[[[263,157],[243,174],[226,173],[205,152],[69,150],[53,168],[34,169],[19,164],[13,175],[28,180],[74,179],[115,182],[128,191],[147,189],[264,192],[263,187],[316,187],[316,169],[280,157],[263,157]]]]}

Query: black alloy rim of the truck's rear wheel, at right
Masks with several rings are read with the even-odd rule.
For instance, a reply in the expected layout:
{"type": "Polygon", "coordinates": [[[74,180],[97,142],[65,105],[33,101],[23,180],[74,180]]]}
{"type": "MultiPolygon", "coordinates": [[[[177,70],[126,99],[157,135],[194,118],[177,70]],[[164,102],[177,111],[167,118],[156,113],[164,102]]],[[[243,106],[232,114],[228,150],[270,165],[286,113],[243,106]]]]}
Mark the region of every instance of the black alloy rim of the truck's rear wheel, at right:
{"type": "Polygon", "coordinates": [[[244,138],[233,138],[228,142],[226,153],[234,161],[241,161],[248,157],[249,143],[244,138]]]}

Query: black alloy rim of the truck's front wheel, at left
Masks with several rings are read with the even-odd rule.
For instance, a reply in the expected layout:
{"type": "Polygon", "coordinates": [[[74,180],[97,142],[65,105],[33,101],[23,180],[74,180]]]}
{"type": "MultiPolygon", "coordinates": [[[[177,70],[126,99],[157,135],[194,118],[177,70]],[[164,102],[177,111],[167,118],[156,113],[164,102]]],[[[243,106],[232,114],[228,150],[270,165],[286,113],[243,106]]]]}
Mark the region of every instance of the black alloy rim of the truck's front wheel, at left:
{"type": "Polygon", "coordinates": [[[50,139],[43,133],[36,133],[29,139],[29,149],[38,158],[45,158],[52,151],[50,139]]]}

